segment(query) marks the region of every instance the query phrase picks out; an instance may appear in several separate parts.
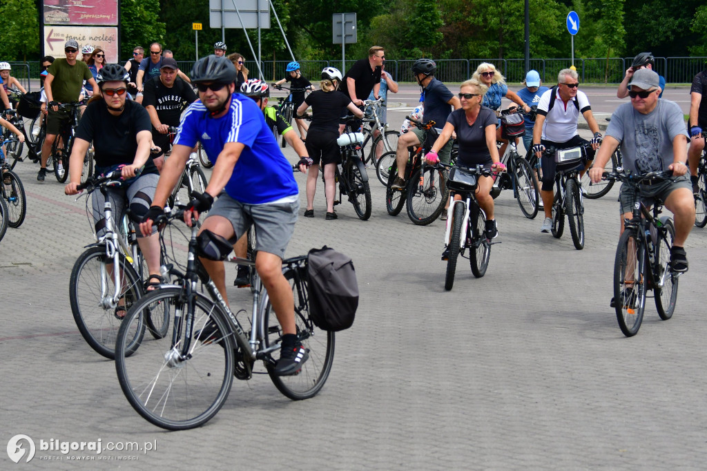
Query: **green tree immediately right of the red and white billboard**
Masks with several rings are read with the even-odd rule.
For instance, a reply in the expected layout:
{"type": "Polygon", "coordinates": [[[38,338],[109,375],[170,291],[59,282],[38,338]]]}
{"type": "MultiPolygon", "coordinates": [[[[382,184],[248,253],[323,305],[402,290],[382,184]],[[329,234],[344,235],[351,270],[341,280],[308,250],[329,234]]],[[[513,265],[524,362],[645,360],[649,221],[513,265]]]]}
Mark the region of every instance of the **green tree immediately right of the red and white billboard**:
{"type": "Polygon", "coordinates": [[[132,57],[132,50],[151,42],[163,42],[165,23],[159,21],[159,0],[120,0],[120,57],[132,57]]]}

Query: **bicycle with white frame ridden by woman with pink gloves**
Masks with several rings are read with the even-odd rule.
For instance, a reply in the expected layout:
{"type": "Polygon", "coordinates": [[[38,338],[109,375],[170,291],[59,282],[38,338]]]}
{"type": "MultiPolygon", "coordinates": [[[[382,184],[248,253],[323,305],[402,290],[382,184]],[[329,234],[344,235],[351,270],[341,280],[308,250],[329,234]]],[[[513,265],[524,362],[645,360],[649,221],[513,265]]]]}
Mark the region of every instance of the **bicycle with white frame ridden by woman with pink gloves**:
{"type": "Polygon", "coordinates": [[[479,177],[489,177],[491,170],[477,165],[475,168],[462,168],[441,164],[450,168],[447,185],[450,190],[450,205],[447,209],[447,229],[445,230],[445,248],[449,249],[447,256],[447,272],[444,289],[450,291],[454,286],[457,270],[457,257],[469,249],[469,264],[474,277],[481,278],[486,274],[491,259],[491,242],[486,238],[486,213],[479,207],[476,190],[479,177]],[[460,194],[462,199],[454,199],[460,194]]]}

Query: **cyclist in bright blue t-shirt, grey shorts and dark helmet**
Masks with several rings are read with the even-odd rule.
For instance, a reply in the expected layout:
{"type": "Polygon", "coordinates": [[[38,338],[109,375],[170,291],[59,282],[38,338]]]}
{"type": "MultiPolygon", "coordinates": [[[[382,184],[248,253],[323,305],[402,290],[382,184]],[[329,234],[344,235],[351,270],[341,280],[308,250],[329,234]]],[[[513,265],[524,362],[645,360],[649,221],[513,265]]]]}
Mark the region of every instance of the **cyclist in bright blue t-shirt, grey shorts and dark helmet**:
{"type": "MultiPolygon", "coordinates": [[[[194,194],[187,205],[185,222],[191,226],[199,213],[211,210],[199,231],[200,247],[208,245],[201,253],[209,258],[200,260],[226,302],[225,270],[218,260],[228,255],[229,244],[255,224],[255,269],[284,332],[275,371],[281,376],[291,375],[308,359],[308,352],[297,339],[292,290],[281,263],[297,221],[298,187],[292,166],[255,101],[234,93],[236,77],[235,66],[226,57],[211,55],[194,64],[191,78],[199,100],[189,105],[182,117],[172,156],[165,162],[153,206],[140,228],[147,233],[156,217],[163,214],[191,149],[200,141],[214,162],[214,172],[206,191],[194,194]],[[221,194],[222,190],[226,193],[221,194]]],[[[204,332],[197,335],[201,339],[204,332]]]]}

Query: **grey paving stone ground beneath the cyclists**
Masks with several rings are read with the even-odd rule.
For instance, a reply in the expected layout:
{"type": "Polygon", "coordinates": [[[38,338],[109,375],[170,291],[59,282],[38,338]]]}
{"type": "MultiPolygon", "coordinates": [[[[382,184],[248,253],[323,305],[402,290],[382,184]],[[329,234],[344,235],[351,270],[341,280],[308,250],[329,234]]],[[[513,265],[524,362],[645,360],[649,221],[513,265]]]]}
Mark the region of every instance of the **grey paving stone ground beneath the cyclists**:
{"type": "MultiPolygon", "coordinates": [[[[84,200],[64,196],[52,175],[37,184],[37,165],[17,170],[28,216],[0,243],[0,449],[25,434],[37,454],[15,465],[0,451],[2,469],[704,469],[707,233],[689,238],[674,317],[661,321],[648,300],[641,331],[627,339],[609,308],[617,188],[585,202],[581,251],[567,230],[559,240],[539,233],[541,217],[526,219],[503,192],[501,243],[486,276],[475,279],[460,259],[446,292],[441,221],[419,227],[405,211],[388,216],[372,174],[370,220],[344,202],[339,220],[325,221],[320,183],[315,219],[301,217],[302,193],[288,255],[337,248],[354,259],[361,289],[325,388],[293,402],[267,375],[235,380],[206,426],[165,432],[134,412],[114,364],[88,347],[71,316],[69,274],[91,242],[84,200]],[[40,450],[52,438],[156,449],[40,450]]],[[[303,189],[304,175],[296,178],[303,189]]],[[[229,294],[232,307],[247,306],[246,293],[229,294]]]]}

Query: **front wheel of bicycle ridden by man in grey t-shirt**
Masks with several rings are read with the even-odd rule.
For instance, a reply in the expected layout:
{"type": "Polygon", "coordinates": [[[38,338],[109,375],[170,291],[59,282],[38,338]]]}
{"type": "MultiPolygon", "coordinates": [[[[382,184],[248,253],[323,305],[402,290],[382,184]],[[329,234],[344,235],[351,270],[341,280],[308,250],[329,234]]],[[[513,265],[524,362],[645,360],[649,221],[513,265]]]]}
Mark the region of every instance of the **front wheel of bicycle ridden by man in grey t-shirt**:
{"type": "Polygon", "coordinates": [[[638,333],[645,309],[645,247],[639,243],[635,228],[628,228],[619,238],[614,259],[614,310],[621,332],[626,337],[638,333]]]}

